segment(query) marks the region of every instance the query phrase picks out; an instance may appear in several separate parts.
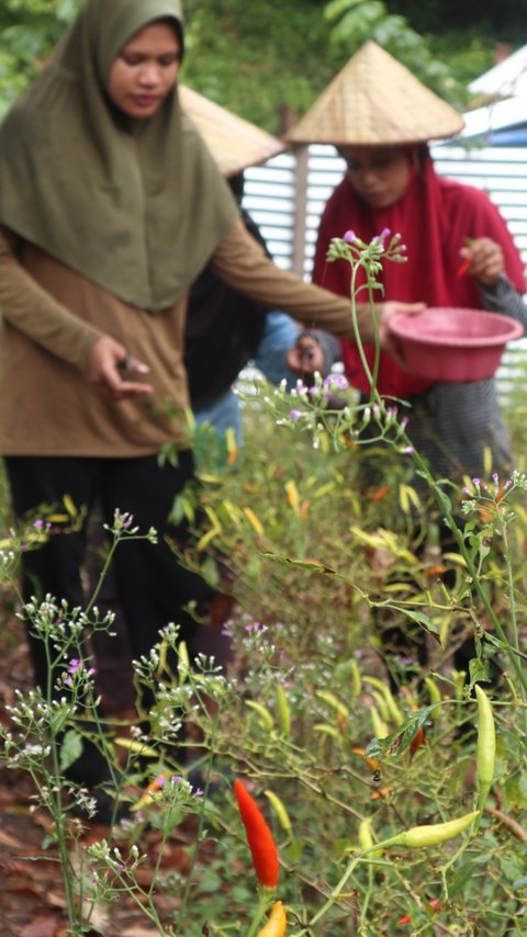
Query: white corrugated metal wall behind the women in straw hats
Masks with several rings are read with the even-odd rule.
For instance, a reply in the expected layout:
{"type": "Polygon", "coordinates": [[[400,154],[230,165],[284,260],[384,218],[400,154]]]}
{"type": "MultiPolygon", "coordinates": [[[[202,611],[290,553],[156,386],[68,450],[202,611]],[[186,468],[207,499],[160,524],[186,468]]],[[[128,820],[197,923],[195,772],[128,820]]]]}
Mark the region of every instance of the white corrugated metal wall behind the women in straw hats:
{"type": "MultiPolygon", "coordinates": [[[[442,176],[484,189],[500,208],[527,264],[527,148],[433,148],[442,176]]],[[[318,218],[345,169],[333,147],[312,146],[294,157],[283,154],[246,171],[244,205],[268,241],[277,263],[310,279],[318,218]]],[[[511,346],[498,372],[503,394],[517,377],[527,339],[511,346]]]]}

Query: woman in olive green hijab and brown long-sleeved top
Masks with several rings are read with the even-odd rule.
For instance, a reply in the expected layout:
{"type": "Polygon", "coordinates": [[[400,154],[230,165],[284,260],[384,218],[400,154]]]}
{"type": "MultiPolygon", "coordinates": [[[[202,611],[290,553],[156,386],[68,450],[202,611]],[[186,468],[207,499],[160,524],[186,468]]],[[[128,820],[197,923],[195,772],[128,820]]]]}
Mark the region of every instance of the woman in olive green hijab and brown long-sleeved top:
{"type": "MultiPolygon", "coordinates": [[[[141,531],[158,530],[157,546],[130,542],[115,556],[136,657],[168,621],[188,639],[195,625],[181,607],[206,599],[166,543],[188,535],[167,517],[193,471],[182,419],[189,285],[210,262],[270,308],[351,336],[346,300],[280,271],[247,235],[180,111],[182,55],[178,0],[87,0],[0,128],[0,451],[14,509],[23,517],[68,495],[89,512],[99,499],[108,523],[119,506],[141,531]],[[178,465],[160,466],[175,441],[178,465]]],[[[53,535],[24,554],[25,596],[82,606],[85,541],[85,530],[53,535]]],[[[31,636],[30,646],[46,686],[42,646],[31,636]]],[[[79,772],[101,777],[93,765],[79,772]]]]}

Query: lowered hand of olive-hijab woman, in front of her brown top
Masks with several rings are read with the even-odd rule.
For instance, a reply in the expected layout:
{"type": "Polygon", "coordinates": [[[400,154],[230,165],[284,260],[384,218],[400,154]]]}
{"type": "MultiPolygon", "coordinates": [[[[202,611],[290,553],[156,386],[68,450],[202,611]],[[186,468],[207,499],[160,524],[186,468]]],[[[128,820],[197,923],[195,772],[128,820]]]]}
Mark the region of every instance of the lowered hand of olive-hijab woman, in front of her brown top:
{"type": "Polygon", "coordinates": [[[90,384],[114,400],[124,400],[153,393],[152,384],[130,380],[131,375],[148,374],[148,365],[133,358],[120,341],[103,335],[90,350],[85,374],[90,384]]]}

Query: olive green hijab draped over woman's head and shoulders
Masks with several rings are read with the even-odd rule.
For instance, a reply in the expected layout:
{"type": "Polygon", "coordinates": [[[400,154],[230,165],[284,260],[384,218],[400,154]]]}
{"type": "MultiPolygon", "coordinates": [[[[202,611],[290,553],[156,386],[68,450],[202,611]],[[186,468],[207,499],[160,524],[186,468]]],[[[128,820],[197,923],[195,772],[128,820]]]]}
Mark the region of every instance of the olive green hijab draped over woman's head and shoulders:
{"type": "Polygon", "coordinates": [[[184,292],[237,218],[177,89],[134,121],[105,94],[120,49],[179,0],[87,0],[0,127],[0,223],[133,306],[184,292]]]}

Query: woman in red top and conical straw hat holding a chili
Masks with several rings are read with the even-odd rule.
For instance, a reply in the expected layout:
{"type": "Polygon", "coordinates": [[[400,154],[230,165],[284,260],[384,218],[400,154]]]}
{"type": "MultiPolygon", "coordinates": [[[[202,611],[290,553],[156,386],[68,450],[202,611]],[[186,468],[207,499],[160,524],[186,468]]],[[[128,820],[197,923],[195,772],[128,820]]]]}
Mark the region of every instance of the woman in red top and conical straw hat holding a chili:
{"type": "MultiPolygon", "coordinates": [[[[389,230],[406,245],[407,262],[383,266],[386,300],[481,309],[482,315],[487,309],[527,325],[524,264],[497,208],[483,191],[441,178],[434,168],[428,142],[461,127],[456,111],[375,43],[367,43],[351,58],[288,134],[290,142],[334,144],[347,166],[322,213],[315,283],[349,295],[349,266],[326,261],[332,238],[355,232],[369,241],[389,230]]],[[[371,388],[357,346],[347,338],[340,345],[345,373],[367,398],[371,388]]],[[[373,346],[366,345],[370,366],[373,352],[373,346]]],[[[481,477],[486,449],[494,472],[509,470],[508,438],[493,379],[433,383],[408,374],[382,350],[378,391],[410,403],[404,409],[410,417],[406,432],[436,477],[457,483],[464,475],[481,477]]],[[[380,482],[377,472],[377,465],[374,475],[366,468],[365,481],[380,482]]],[[[444,527],[440,539],[445,550],[453,549],[444,527]]],[[[418,651],[424,662],[423,643],[418,651]]],[[[469,655],[471,641],[457,653],[460,669],[469,655]]]]}

